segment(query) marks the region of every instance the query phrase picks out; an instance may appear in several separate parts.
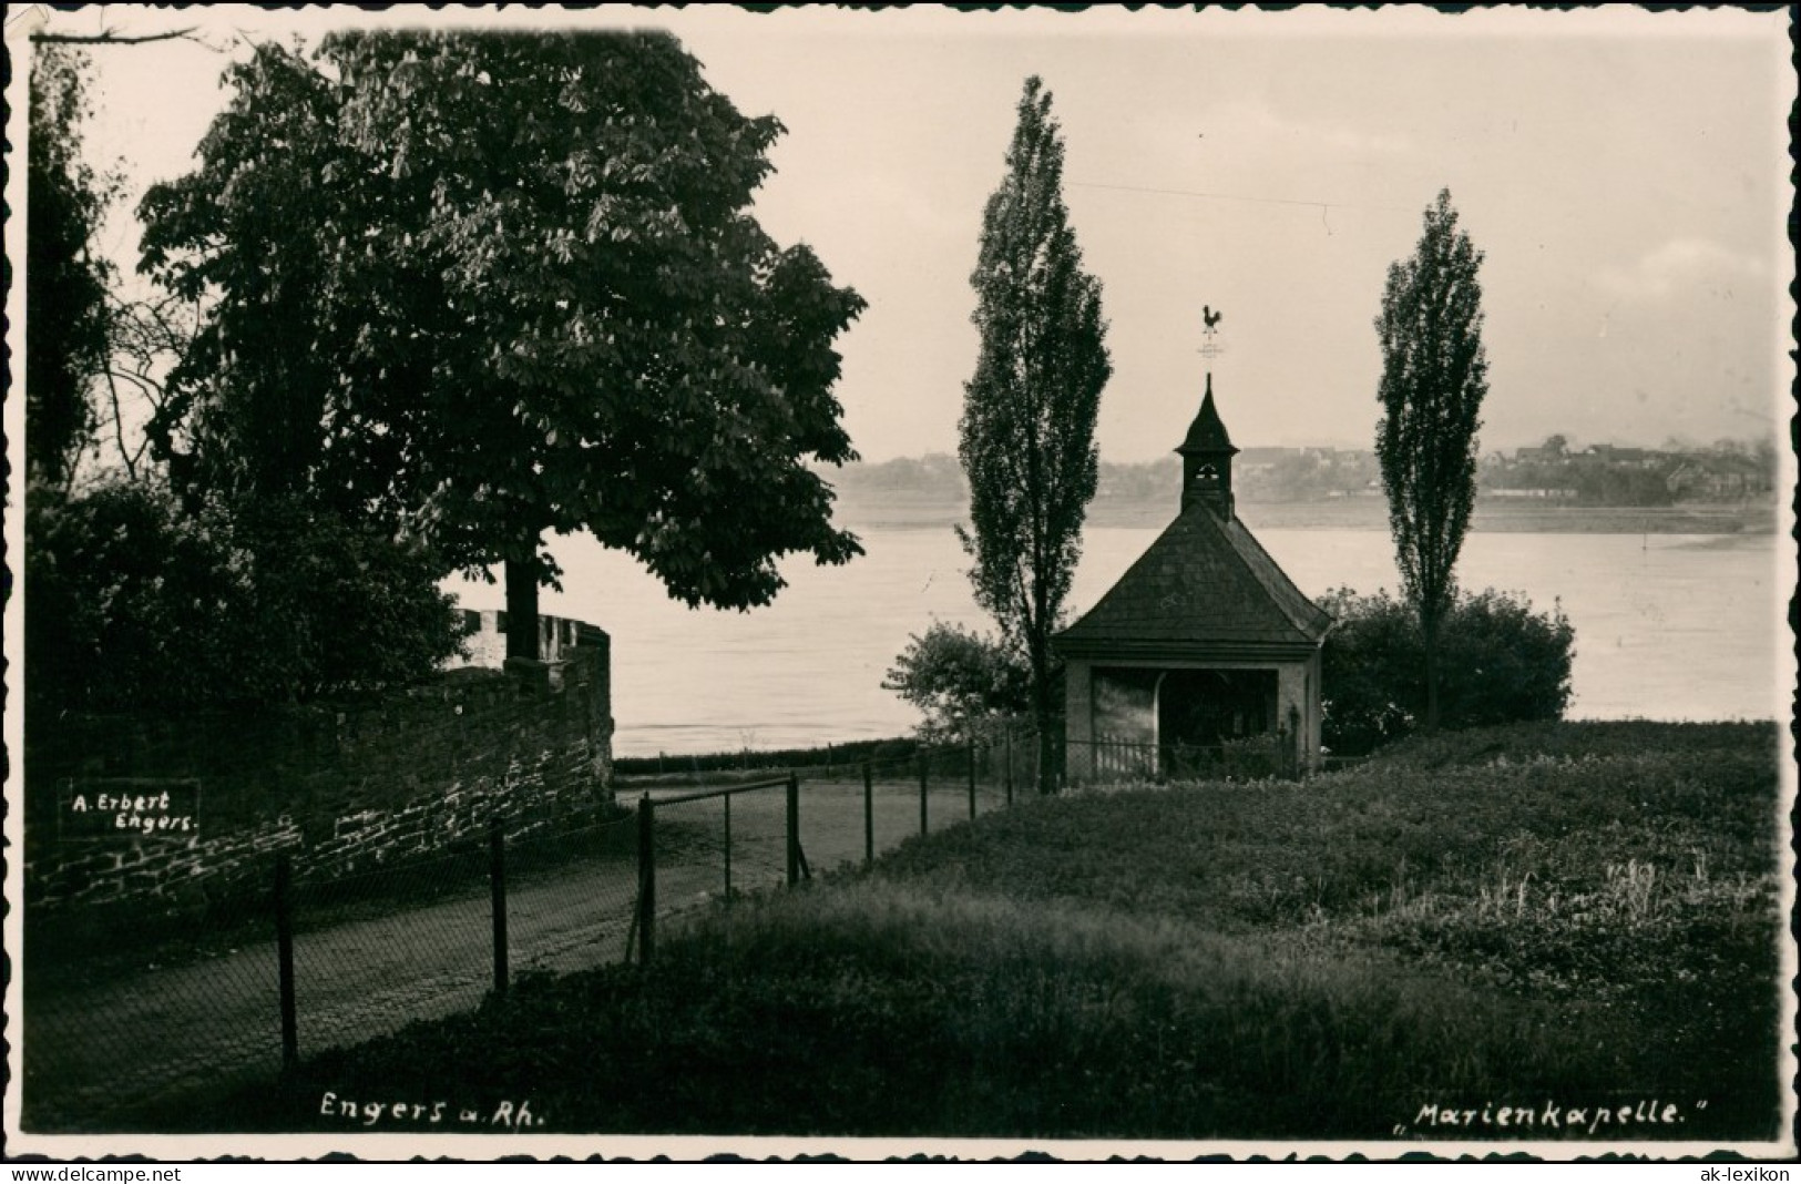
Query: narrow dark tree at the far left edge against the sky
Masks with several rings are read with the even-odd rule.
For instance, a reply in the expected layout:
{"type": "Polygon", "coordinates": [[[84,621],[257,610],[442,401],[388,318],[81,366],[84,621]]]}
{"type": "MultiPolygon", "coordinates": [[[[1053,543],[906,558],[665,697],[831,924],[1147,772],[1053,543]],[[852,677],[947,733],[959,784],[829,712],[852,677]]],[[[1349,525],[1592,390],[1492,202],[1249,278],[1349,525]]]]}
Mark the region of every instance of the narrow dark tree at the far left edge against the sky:
{"type": "Polygon", "coordinates": [[[117,182],[83,159],[90,114],[79,50],[31,54],[25,159],[25,474],[63,490],[95,429],[94,380],[106,369],[112,267],[95,234],[117,182]]]}

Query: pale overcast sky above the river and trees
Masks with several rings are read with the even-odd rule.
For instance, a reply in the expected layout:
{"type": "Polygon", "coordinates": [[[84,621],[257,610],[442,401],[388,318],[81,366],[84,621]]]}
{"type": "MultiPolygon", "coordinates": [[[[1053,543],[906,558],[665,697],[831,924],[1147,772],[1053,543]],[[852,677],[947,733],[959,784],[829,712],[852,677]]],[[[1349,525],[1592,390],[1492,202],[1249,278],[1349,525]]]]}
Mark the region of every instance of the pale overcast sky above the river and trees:
{"type": "MultiPolygon", "coordinates": [[[[133,7],[108,5],[106,22],[211,22],[218,47],[238,29],[371,22],[133,7]]],[[[1371,321],[1439,187],[1486,252],[1486,449],[1752,436],[1787,405],[1783,13],[627,16],[605,23],[675,31],[740,110],[787,124],[758,216],[870,301],[841,339],[866,460],[956,447],[982,207],[1034,72],[1111,323],[1106,460],[1178,443],[1208,366],[1201,305],[1225,312],[1214,386],[1241,447],[1367,447],[1371,321]]],[[[101,16],[50,20],[92,31],[101,16]]],[[[92,150],[124,159],[135,193],[186,171],[223,103],[225,56],[171,41],[94,61],[92,150]]],[[[135,263],[126,218],[108,241],[135,263]]]]}

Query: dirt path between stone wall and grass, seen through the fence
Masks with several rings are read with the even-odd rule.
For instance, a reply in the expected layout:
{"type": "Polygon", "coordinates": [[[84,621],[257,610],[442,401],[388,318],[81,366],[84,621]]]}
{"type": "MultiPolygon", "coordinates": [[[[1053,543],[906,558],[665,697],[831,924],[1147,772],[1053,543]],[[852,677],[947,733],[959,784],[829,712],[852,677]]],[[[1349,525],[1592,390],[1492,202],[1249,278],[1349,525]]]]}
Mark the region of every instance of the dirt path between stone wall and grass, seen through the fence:
{"type": "MultiPolygon", "coordinates": [[[[621,797],[630,800],[636,798],[621,797]]],[[[983,813],[1000,807],[998,789],[980,793],[983,813]]],[[[801,847],[816,874],[863,860],[863,809],[861,784],[803,788],[801,847]]],[[[967,789],[929,793],[929,829],[967,816],[967,789]]],[[[733,798],[733,888],[782,883],[783,818],[780,789],[733,798]]],[[[873,820],[877,851],[917,834],[917,786],[879,786],[873,820]]],[[[659,917],[704,906],[724,887],[722,802],[659,809],[659,917]]],[[[511,973],[569,973],[621,961],[636,899],[634,856],[571,863],[510,885],[511,973]]],[[[294,953],[301,1056],[477,1006],[493,986],[492,939],[484,881],[443,903],[313,932],[303,928],[294,953]]],[[[27,982],[29,977],[27,961],[27,982]]],[[[267,1079],[281,1069],[274,941],[104,986],[79,980],[31,986],[22,1043],[27,1130],[106,1130],[110,1114],[146,1099],[267,1079]]]]}

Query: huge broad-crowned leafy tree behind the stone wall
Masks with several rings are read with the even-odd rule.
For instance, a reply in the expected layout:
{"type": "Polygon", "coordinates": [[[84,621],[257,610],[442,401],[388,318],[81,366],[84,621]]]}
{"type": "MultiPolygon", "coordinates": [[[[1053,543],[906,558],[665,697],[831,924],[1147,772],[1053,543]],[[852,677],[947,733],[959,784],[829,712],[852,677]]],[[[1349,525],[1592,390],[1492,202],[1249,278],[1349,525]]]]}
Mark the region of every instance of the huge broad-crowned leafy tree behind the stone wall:
{"type": "MultiPolygon", "coordinates": [[[[162,447],[504,564],[535,652],[548,532],[688,604],[845,562],[832,393],[863,310],[749,213],[774,117],[666,34],[348,32],[263,49],[200,169],[144,202],[146,267],[213,305],[162,447]]],[[[214,479],[214,478],[209,478],[214,479]]]]}

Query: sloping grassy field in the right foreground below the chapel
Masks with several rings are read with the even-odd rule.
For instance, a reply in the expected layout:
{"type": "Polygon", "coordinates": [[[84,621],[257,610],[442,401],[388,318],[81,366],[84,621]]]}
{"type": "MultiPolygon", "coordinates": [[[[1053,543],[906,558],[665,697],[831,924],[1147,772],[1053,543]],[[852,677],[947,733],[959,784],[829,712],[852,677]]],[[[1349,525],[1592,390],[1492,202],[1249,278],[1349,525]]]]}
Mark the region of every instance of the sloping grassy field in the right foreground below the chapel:
{"type": "Polygon", "coordinates": [[[1032,802],[202,1125],[1776,1139],[1776,741],[1540,724],[1032,802]]]}

